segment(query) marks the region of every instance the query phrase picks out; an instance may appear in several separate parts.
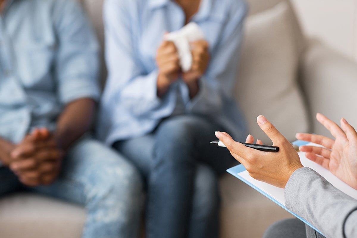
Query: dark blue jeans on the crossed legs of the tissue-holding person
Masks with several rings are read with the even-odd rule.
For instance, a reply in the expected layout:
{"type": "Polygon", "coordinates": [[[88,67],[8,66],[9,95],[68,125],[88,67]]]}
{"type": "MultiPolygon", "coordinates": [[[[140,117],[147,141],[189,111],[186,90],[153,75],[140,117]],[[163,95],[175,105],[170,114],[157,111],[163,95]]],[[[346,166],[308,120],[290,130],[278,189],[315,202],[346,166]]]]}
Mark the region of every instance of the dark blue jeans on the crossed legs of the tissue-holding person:
{"type": "Polygon", "coordinates": [[[210,144],[216,130],[205,118],[174,116],[149,135],[114,143],[146,181],[148,238],[218,237],[217,174],[234,159],[210,144]]]}

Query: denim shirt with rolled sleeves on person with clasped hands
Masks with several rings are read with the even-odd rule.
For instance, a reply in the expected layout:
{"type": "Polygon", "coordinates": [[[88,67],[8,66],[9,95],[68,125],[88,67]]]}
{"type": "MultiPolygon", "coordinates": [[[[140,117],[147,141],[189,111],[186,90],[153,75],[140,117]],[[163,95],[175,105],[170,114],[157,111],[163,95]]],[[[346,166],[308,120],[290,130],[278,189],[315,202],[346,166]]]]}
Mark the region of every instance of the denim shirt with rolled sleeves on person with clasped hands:
{"type": "Polygon", "coordinates": [[[98,44],[73,0],[7,0],[0,15],[0,137],[54,130],[64,106],[99,98],[98,44]]]}

